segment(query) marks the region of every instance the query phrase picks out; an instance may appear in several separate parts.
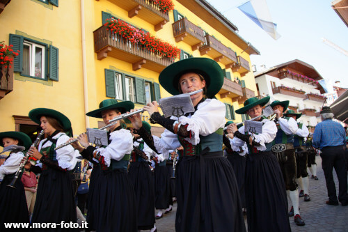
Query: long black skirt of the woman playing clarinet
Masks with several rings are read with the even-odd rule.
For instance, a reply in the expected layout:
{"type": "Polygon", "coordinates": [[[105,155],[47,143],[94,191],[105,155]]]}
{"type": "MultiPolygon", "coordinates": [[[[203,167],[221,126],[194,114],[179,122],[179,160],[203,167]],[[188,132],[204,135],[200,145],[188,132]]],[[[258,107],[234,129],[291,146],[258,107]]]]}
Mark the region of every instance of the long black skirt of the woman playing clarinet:
{"type": "MultiPolygon", "coordinates": [[[[62,221],[65,223],[77,222],[72,180],[67,171],[49,168],[42,171],[40,175],[31,222],[61,224],[62,221]]],[[[33,231],[36,230],[33,229],[33,231]]],[[[45,231],[50,230],[45,229],[45,231]]],[[[51,231],[76,231],[76,229],[62,229],[57,226],[51,231]]]]}

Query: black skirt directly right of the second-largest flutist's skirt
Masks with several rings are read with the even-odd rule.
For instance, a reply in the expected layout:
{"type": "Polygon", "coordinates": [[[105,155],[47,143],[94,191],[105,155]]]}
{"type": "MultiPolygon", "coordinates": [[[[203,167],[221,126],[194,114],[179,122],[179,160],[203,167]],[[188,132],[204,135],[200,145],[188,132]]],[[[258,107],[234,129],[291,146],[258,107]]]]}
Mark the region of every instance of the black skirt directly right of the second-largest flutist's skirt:
{"type": "Polygon", "coordinates": [[[152,229],[155,224],[155,189],[150,167],[146,162],[132,162],[128,176],[136,196],[138,229],[152,229]]]}

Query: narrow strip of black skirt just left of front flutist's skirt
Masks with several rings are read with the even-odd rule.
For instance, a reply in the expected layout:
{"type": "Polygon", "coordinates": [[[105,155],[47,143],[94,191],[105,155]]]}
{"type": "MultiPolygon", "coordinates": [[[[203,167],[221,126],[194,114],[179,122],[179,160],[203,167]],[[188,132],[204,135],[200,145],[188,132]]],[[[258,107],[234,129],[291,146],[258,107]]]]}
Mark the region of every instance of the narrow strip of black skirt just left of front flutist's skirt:
{"type": "Polygon", "coordinates": [[[166,166],[156,165],[155,171],[155,207],[163,210],[173,205],[171,197],[171,179],[166,166]]]}

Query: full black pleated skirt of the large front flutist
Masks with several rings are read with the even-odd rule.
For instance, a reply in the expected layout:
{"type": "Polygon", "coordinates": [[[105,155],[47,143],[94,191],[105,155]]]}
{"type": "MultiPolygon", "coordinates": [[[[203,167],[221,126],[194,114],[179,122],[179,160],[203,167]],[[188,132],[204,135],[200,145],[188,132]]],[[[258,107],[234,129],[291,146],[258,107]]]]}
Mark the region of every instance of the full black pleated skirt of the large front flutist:
{"type": "MultiPolygon", "coordinates": [[[[211,153],[210,153],[211,154],[211,153]]],[[[226,157],[184,156],[177,165],[176,231],[245,231],[235,173],[226,157]]]]}

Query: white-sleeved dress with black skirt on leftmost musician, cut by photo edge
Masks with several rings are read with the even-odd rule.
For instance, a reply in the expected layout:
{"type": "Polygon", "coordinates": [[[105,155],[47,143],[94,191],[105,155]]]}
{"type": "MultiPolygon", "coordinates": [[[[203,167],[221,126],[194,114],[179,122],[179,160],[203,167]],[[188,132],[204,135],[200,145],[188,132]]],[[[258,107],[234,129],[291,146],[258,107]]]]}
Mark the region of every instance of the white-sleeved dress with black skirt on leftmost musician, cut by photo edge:
{"type": "Polygon", "coordinates": [[[5,163],[0,166],[0,176],[5,174],[0,184],[0,231],[5,230],[4,223],[6,222],[29,223],[28,206],[21,181],[22,175],[18,176],[15,188],[7,186],[15,177],[15,172],[18,170],[23,157],[22,152],[10,153],[5,163]]]}

